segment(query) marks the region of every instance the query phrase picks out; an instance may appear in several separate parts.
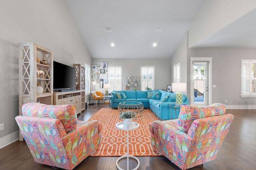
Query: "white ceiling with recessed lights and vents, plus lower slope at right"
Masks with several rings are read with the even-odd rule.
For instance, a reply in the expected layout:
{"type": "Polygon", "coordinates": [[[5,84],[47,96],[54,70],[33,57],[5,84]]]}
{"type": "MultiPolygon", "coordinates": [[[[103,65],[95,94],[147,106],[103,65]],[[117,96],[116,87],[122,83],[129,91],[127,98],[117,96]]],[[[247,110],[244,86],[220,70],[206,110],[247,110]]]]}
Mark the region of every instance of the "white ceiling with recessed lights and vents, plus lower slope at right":
{"type": "MultiPolygon", "coordinates": [[[[205,2],[65,1],[92,58],[170,58],[205,2]],[[104,27],[112,27],[112,32],[104,27]],[[155,27],[162,31],[154,32],[155,27]],[[111,47],[111,43],[115,46],[111,47]]],[[[255,20],[255,14],[256,10],[193,47],[256,47],[256,23],[248,22],[255,20]]]]}

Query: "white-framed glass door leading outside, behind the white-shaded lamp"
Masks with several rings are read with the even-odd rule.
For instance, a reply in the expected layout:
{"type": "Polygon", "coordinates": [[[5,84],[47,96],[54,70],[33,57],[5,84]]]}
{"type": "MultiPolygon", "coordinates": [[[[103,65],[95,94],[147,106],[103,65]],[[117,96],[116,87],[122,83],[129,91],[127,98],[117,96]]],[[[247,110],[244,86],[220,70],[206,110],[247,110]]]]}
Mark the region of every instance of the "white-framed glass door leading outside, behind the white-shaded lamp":
{"type": "Polygon", "coordinates": [[[191,57],[190,104],[208,106],[211,104],[211,57],[191,57]]]}

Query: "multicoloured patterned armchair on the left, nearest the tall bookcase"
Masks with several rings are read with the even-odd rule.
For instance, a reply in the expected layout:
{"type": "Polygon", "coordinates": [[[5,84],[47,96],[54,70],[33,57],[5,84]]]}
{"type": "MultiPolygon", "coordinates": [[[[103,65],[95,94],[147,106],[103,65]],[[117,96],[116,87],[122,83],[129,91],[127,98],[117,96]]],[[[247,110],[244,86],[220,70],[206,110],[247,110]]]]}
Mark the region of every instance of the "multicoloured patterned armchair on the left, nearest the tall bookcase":
{"type": "Polygon", "coordinates": [[[74,105],[22,105],[15,119],[35,162],[72,170],[101,142],[102,124],[78,121],[74,105]]]}

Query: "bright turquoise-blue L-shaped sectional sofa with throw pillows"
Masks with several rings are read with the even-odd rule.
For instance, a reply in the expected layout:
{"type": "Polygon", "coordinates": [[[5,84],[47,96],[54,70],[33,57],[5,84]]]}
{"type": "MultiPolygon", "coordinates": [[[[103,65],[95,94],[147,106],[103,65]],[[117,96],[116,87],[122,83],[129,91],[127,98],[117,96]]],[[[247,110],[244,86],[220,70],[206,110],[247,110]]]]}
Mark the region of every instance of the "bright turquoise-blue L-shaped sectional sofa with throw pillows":
{"type": "MultiPolygon", "coordinates": [[[[111,107],[117,108],[120,102],[137,101],[141,102],[144,108],[150,108],[160,119],[177,119],[175,114],[171,117],[171,110],[168,104],[175,106],[176,95],[164,90],[150,91],[113,91],[110,97],[111,107]]],[[[182,104],[189,104],[186,95],[182,95],[182,104]]],[[[172,110],[175,113],[175,110],[172,110]]]]}

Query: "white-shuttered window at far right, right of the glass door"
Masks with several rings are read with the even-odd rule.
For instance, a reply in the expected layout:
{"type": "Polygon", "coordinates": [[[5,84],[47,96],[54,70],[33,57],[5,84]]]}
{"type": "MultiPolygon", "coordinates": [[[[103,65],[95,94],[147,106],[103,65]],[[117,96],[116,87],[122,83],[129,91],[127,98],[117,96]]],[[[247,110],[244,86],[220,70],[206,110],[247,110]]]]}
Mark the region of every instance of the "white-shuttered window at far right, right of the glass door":
{"type": "Polygon", "coordinates": [[[241,64],[241,97],[256,97],[256,60],[242,60],[241,64]]]}

